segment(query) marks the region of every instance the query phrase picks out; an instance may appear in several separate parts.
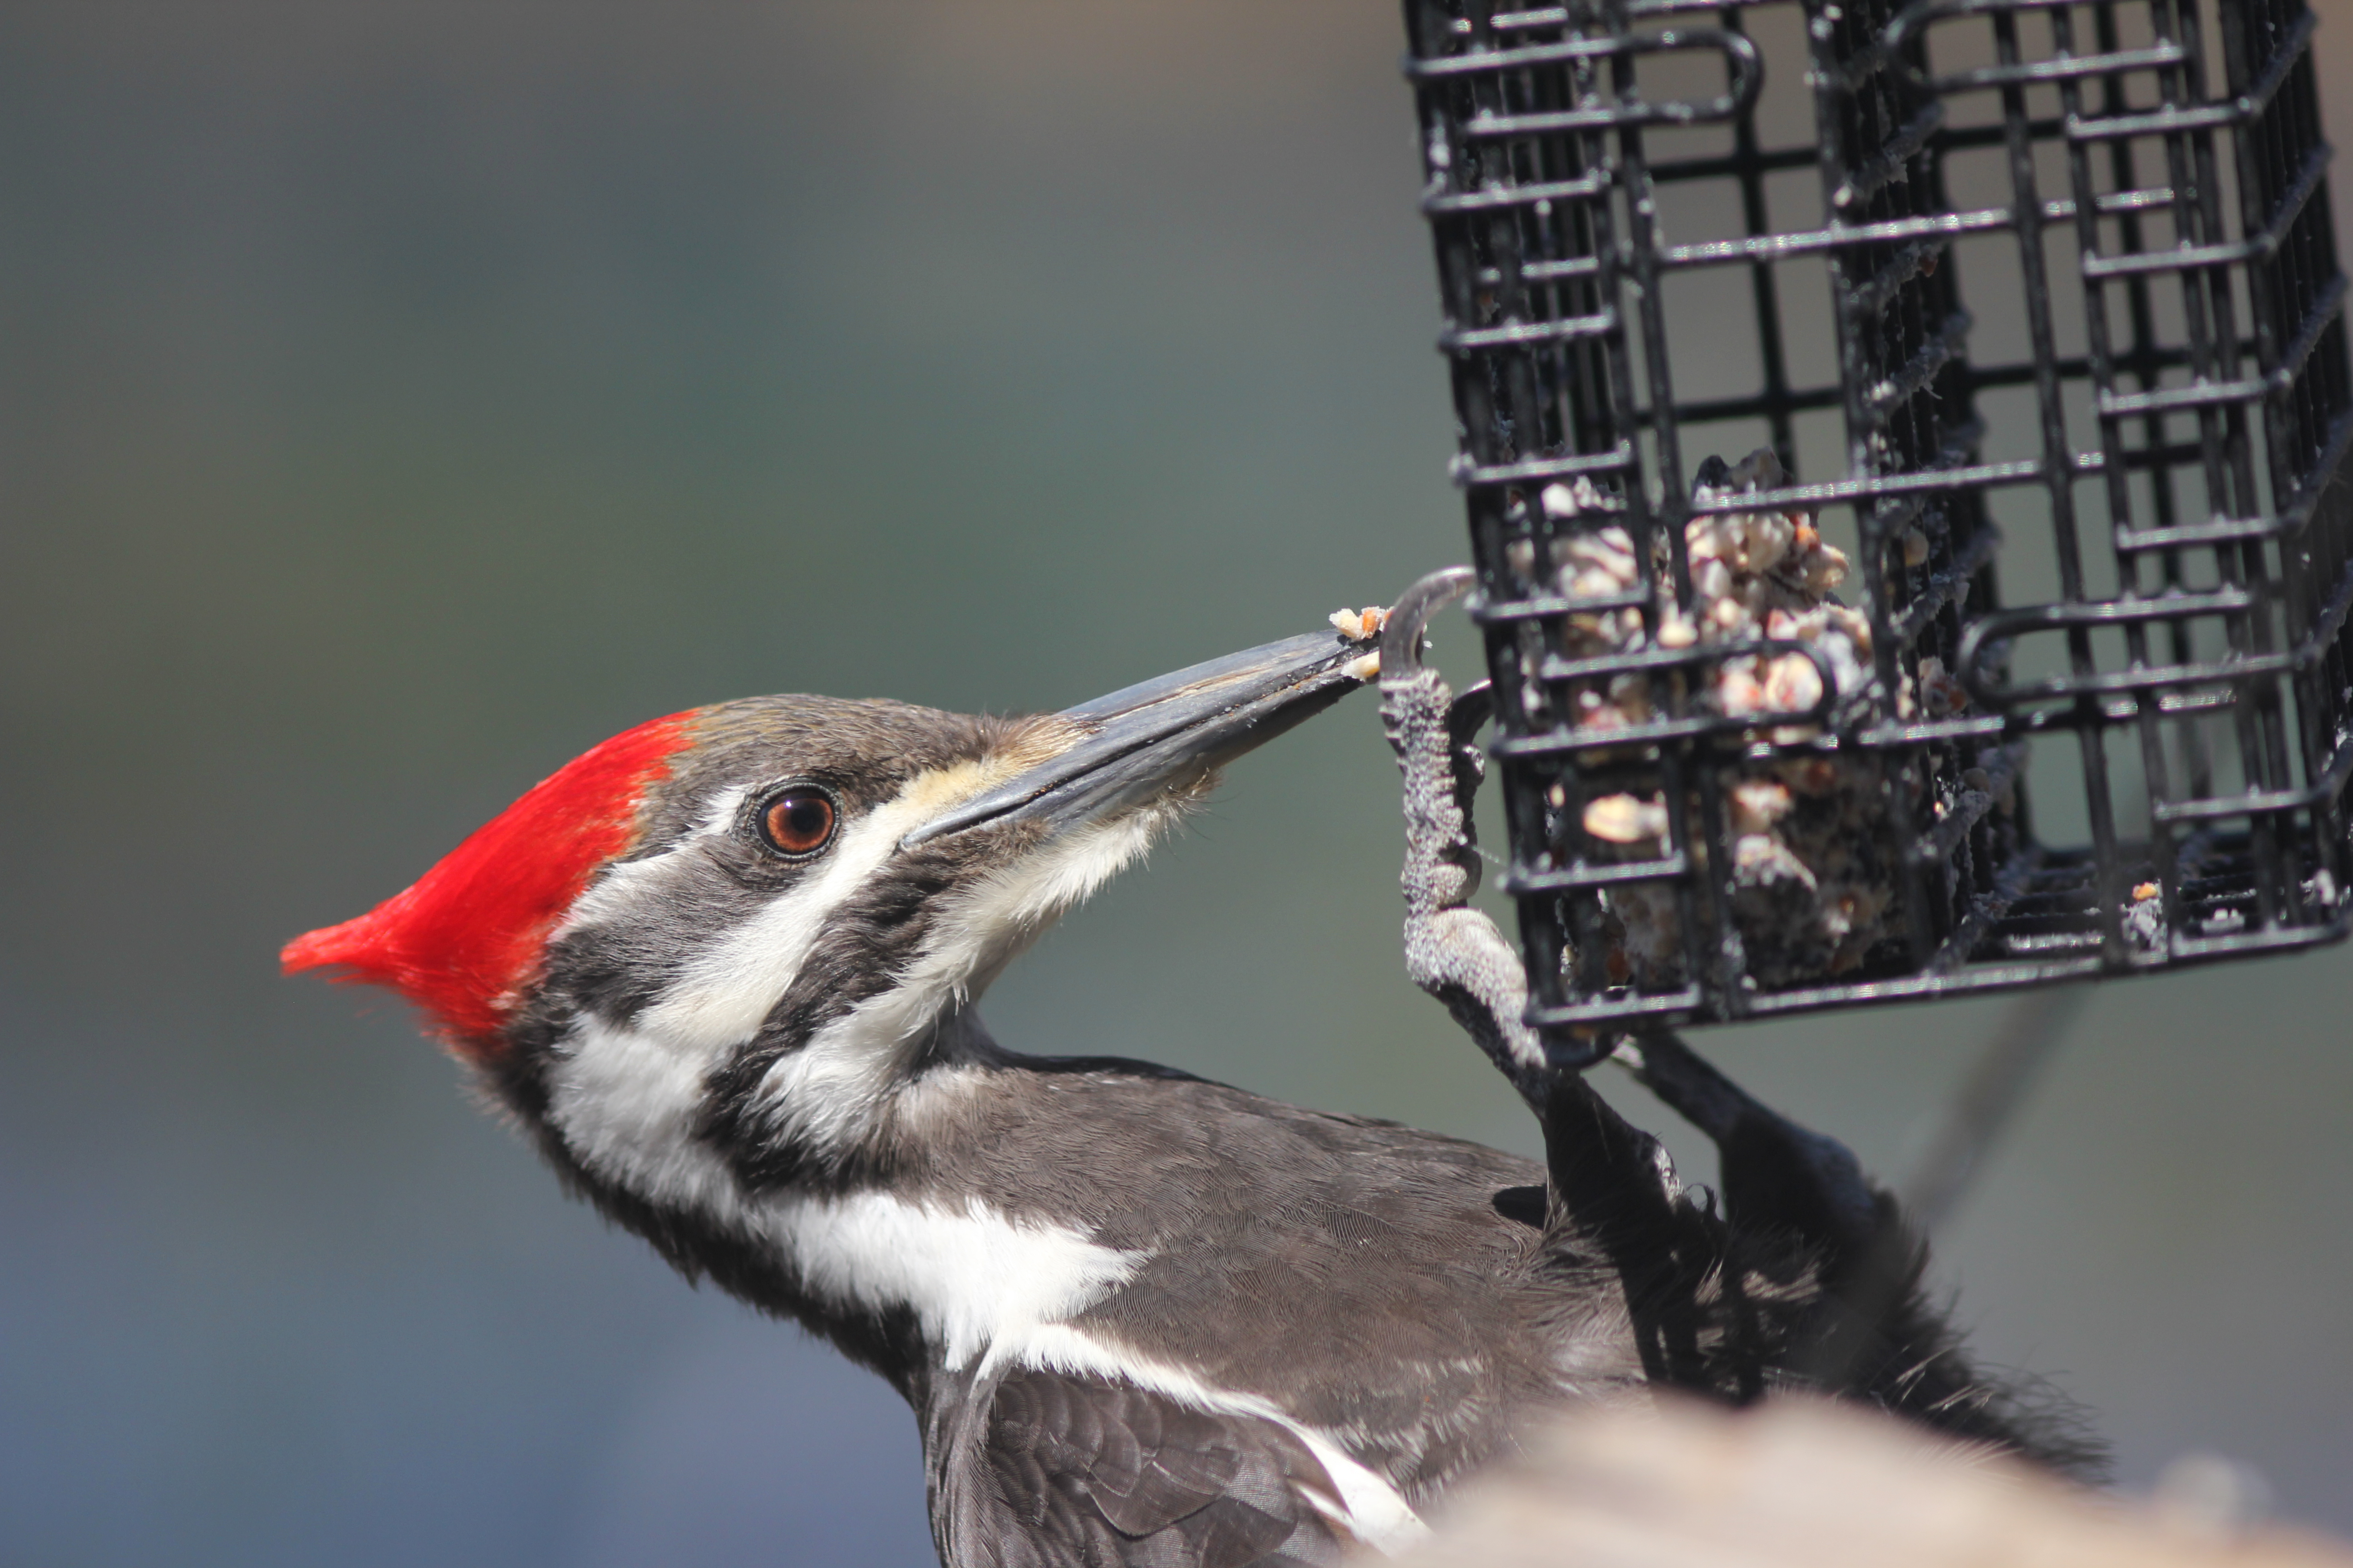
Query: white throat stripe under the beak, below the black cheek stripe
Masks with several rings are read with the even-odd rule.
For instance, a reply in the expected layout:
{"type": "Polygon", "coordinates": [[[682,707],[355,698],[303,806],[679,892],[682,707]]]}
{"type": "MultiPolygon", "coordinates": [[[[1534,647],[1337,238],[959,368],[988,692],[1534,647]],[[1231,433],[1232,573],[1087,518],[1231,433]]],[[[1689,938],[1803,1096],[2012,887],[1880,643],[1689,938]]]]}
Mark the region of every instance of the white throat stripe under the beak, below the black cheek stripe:
{"type": "Polygon", "coordinates": [[[934,922],[932,940],[894,987],[776,1058],[760,1084],[776,1135],[840,1147],[871,1128],[913,1070],[925,1030],[988,990],[1059,914],[1151,849],[1172,816],[1146,809],[1080,827],[981,879],[934,922]]]}

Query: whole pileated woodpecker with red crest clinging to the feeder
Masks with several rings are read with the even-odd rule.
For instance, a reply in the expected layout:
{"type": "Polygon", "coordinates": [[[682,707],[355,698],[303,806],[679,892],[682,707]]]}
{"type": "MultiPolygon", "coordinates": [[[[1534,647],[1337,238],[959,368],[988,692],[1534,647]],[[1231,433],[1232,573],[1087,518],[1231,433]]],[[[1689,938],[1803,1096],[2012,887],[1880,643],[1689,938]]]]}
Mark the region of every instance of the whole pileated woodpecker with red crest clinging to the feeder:
{"type": "Polygon", "coordinates": [[[1480,703],[1419,661],[1461,585],[1417,585],[1381,642],[1407,957],[1541,1117],[1544,1166],[1019,1056],[974,1011],[1221,764],[1372,675],[1341,635],[1042,717],[772,696],[654,719],[285,966],[421,1004],[567,1187],[887,1378],[955,1568],[1395,1547],[1527,1420],[1659,1385],[1826,1385],[2075,1458],[1920,1307],[1840,1145],[1673,1037],[1628,1041],[1725,1147],[1718,1215],[1546,1065],[1511,947],[1464,907],[1480,703]]]}

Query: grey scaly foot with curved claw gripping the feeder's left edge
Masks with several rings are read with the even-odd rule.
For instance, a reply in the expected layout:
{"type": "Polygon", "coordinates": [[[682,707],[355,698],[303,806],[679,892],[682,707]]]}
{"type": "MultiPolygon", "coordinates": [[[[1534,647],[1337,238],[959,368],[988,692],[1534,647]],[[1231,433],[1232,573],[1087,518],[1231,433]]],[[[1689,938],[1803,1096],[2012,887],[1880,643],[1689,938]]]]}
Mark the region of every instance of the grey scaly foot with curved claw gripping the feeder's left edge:
{"type": "Polygon", "coordinates": [[[1468,907],[1480,882],[1471,802],[1485,776],[1473,736],[1494,698],[1487,682],[1454,696],[1421,663],[1428,618],[1471,583],[1468,567],[1433,571],[1381,628],[1381,726],[1405,773],[1405,969],[1541,1114],[1558,1074],[1522,1020],[1527,971],[1494,922],[1468,907]]]}

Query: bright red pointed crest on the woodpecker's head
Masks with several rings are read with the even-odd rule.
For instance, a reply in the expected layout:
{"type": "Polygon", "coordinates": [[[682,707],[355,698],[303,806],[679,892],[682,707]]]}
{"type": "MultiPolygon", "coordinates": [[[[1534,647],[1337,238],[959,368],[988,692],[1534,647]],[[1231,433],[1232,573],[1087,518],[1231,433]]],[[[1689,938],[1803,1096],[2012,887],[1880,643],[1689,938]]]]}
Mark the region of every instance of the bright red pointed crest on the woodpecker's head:
{"type": "Polygon", "coordinates": [[[638,804],[689,745],[692,719],[673,712],[581,752],[414,886],[296,936],[278,961],[287,973],[334,964],[339,980],[388,985],[433,1013],[452,1044],[494,1048],[555,922],[600,865],[628,851],[638,804]]]}

